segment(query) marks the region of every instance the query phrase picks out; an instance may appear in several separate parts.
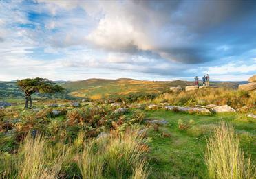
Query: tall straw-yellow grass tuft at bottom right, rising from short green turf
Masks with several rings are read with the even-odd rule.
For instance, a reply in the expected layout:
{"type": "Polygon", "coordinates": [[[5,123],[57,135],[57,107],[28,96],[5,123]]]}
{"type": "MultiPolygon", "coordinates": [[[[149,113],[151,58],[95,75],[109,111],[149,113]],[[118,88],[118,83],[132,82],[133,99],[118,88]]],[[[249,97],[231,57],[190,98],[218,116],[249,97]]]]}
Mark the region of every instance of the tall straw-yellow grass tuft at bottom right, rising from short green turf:
{"type": "Polygon", "coordinates": [[[250,156],[245,158],[239,149],[239,139],[233,127],[224,122],[214,129],[207,143],[205,161],[209,178],[253,179],[256,174],[250,156]]]}

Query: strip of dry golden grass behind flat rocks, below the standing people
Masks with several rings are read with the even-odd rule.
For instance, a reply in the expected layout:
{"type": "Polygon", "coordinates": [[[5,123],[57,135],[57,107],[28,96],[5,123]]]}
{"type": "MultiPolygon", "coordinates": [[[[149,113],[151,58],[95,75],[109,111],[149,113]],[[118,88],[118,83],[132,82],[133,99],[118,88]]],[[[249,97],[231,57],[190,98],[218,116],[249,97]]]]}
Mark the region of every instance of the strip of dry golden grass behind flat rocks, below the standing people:
{"type": "Polygon", "coordinates": [[[157,97],[154,102],[169,102],[174,105],[192,106],[195,104],[206,105],[228,104],[233,108],[248,106],[256,107],[256,93],[226,88],[207,88],[198,91],[182,91],[180,93],[164,93],[157,97]]]}

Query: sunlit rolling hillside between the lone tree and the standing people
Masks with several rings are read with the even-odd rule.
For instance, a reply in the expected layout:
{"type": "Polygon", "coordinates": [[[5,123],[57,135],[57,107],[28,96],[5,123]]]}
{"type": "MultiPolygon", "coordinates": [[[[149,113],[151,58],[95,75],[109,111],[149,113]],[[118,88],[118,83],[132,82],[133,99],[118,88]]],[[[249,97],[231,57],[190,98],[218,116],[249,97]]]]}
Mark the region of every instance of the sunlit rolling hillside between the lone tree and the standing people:
{"type": "Polygon", "coordinates": [[[76,82],[67,82],[62,86],[70,91],[74,97],[88,97],[100,99],[131,94],[156,94],[168,91],[170,86],[187,86],[192,82],[175,80],[171,82],[142,81],[127,78],[117,80],[88,79],[76,82]]]}

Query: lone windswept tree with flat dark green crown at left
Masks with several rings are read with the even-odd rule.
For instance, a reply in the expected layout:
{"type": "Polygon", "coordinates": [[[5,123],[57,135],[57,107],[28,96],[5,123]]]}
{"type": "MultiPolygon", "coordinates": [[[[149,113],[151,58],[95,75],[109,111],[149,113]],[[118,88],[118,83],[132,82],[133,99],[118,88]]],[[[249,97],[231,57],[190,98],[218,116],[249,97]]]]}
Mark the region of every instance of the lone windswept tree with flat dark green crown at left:
{"type": "Polygon", "coordinates": [[[62,93],[64,88],[58,86],[54,82],[45,78],[36,77],[34,79],[17,80],[19,88],[25,93],[25,108],[28,108],[28,101],[30,101],[30,108],[32,108],[31,95],[33,93],[62,93]]]}

